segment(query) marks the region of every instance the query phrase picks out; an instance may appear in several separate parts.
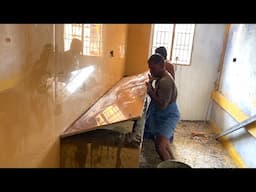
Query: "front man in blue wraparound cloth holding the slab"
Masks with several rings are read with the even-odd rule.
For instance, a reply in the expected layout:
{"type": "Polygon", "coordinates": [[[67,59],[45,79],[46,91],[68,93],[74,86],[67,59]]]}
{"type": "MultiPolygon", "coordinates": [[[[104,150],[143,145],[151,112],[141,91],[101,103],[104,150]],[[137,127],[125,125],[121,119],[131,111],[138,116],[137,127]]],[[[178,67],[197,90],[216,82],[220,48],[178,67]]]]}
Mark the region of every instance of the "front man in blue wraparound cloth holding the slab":
{"type": "Polygon", "coordinates": [[[146,115],[144,138],[154,139],[156,151],[164,161],[173,158],[169,144],[180,118],[176,105],[177,88],[160,54],[152,55],[148,66],[151,75],[146,86],[151,102],[146,115]],[[155,88],[152,86],[154,79],[155,88]]]}

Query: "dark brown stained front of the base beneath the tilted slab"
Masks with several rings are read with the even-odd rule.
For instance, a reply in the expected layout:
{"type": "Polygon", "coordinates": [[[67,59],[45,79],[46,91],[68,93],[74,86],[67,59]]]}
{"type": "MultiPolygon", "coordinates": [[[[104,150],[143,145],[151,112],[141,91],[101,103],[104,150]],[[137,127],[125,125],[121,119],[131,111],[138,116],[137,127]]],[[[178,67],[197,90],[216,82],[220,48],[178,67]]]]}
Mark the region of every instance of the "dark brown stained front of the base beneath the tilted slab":
{"type": "Polygon", "coordinates": [[[61,167],[135,168],[141,146],[129,146],[125,134],[95,130],[61,140],[61,167]]]}

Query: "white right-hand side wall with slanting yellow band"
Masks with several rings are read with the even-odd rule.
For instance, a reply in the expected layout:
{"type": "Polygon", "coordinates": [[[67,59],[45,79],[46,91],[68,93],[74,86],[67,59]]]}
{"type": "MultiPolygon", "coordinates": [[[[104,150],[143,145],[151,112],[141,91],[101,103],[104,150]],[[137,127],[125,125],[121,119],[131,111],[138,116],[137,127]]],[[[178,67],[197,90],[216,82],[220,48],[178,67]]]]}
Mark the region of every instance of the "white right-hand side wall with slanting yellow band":
{"type": "MultiPolygon", "coordinates": [[[[220,131],[228,130],[255,114],[256,48],[255,24],[230,24],[226,33],[226,45],[220,62],[219,86],[213,92],[214,101],[211,121],[220,131]],[[236,59],[234,59],[236,58],[236,59]]],[[[245,167],[256,167],[256,126],[254,123],[226,135],[233,146],[235,160],[244,162],[245,167]],[[238,154],[238,155],[235,155],[238,154]]],[[[228,146],[229,146],[228,145],[228,146]]]]}

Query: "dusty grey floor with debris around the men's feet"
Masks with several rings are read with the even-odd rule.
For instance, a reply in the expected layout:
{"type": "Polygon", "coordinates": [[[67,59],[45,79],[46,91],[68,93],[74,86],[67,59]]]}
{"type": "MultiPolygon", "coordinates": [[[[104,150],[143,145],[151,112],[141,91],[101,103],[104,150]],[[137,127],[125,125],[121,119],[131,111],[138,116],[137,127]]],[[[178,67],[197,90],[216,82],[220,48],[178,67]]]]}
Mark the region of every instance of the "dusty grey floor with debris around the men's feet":
{"type": "MultiPolygon", "coordinates": [[[[222,144],[214,139],[213,130],[204,122],[180,122],[171,149],[175,160],[192,168],[236,168],[222,144]]],[[[155,168],[160,162],[153,141],[144,140],[140,167],[155,168]]]]}

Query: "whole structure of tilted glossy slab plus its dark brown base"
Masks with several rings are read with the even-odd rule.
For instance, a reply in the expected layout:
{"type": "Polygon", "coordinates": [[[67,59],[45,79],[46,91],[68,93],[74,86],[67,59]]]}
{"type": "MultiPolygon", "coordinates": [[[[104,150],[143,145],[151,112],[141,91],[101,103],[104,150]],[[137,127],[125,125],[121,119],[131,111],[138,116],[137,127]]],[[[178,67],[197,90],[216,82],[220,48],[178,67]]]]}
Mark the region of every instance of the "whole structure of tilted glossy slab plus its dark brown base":
{"type": "Polygon", "coordinates": [[[122,79],[61,135],[61,167],[139,166],[146,80],[147,73],[122,79]]]}

